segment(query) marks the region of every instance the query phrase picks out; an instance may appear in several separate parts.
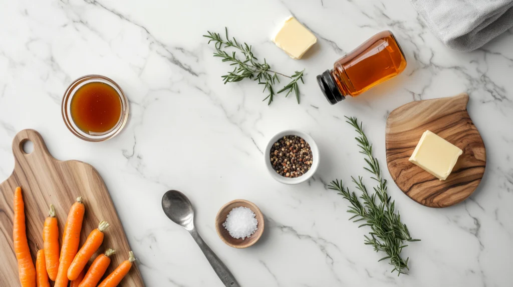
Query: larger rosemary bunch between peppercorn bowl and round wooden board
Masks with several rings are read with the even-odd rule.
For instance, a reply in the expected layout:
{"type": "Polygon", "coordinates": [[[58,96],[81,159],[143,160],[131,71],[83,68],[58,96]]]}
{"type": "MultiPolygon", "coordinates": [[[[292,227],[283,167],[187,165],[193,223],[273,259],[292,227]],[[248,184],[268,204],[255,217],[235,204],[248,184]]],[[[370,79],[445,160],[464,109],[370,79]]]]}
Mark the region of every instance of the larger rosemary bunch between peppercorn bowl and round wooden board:
{"type": "Polygon", "coordinates": [[[404,260],[400,256],[403,248],[407,247],[407,245],[404,245],[404,241],[420,241],[420,239],[411,238],[408,228],[401,222],[399,212],[396,213],[395,201],[390,201],[391,197],[387,193],[386,180],[383,179],[381,174],[378,159],[372,156],[372,144],[369,143],[363,132],[362,123],[359,125],[357,118],[346,117],[346,119],[347,123],[352,125],[360,135],[355,139],[361,148],[360,152],[366,156],[367,167],[364,167],[364,169],[373,174],[371,179],[377,181],[378,185],[374,187],[374,193],[370,194],[363,184],[361,176],[358,177],[358,180],[351,176],[352,182],[362,193],[360,196],[350,192],[349,188],[344,188],[342,181],[339,180],[332,181],[328,188],[337,190],[351,204],[347,212],[354,215],[349,220],[356,218],[353,222],[364,222],[359,228],[363,226],[371,228],[370,236],[365,235],[364,244],[371,245],[376,252],[383,251],[386,253],[387,256],[378,261],[389,259],[389,264],[394,267],[391,272],[397,271],[398,276],[406,274],[405,270],[409,270],[409,258],[404,260]],[[378,202],[376,197],[378,197],[378,202]],[[359,198],[362,199],[363,204],[359,198]]]}

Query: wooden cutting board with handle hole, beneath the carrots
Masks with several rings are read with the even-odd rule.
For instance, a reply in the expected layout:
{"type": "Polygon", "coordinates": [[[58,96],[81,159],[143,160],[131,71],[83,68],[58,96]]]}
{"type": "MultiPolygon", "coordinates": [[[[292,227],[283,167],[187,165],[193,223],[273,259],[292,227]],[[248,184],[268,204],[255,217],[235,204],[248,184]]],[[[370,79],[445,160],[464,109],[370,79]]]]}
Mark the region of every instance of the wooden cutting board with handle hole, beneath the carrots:
{"type": "MultiPolygon", "coordinates": [[[[21,186],[23,190],[27,238],[34,264],[35,246],[37,245],[40,249],[43,247],[43,223],[48,215],[49,205],[55,206],[62,240],[69,208],[78,196],[84,197],[86,206],[81,246],[89,232],[97,228],[100,220],[107,220],[110,227],[105,231],[103,245],[97,253],[103,253],[107,248],[116,250],[116,254],[111,257],[112,262],[107,274],[128,259],[130,246],[125,231],[102,177],[94,167],[80,161],[54,159],[48,152],[41,135],[32,129],[22,130],[14,137],[12,150],[14,171],[5,182],[0,184],[0,254],[3,260],[0,264],[0,278],[2,278],[0,285],[20,286],[12,239],[13,195],[17,186],[21,186]],[[30,154],[23,151],[23,143],[27,140],[32,141],[34,146],[30,154]]],[[[95,257],[93,256],[93,259],[95,257]]],[[[89,264],[91,262],[92,260],[89,264]]],[[[144,286],[137,264],[134,264],[120,285],[144,286]]]]}

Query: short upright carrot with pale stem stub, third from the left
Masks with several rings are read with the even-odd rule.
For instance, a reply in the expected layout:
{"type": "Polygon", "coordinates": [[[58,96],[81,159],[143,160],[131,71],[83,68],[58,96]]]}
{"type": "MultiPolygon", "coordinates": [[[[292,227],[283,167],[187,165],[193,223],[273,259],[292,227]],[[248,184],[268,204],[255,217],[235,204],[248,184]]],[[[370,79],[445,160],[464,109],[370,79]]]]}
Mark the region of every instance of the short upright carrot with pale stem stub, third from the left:
{"type": "Polygon", "coordinates": [[[45,251],[46,271],[50,280],[55,281],[59,268],[59,229],[55,208],[50,204],[49,216],[43,228],[43,250],[45,251]]]}

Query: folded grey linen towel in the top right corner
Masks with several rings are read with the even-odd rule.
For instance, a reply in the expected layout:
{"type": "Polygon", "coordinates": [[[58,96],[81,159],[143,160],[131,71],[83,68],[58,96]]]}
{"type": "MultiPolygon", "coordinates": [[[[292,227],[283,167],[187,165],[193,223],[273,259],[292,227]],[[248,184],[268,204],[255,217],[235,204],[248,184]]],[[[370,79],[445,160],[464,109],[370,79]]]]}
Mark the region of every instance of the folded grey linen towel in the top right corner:
{"type": "Polygon", "coordinates": [[[468,52],[513,26],[513,0],[411,0],[447,47],[468,52]]]}

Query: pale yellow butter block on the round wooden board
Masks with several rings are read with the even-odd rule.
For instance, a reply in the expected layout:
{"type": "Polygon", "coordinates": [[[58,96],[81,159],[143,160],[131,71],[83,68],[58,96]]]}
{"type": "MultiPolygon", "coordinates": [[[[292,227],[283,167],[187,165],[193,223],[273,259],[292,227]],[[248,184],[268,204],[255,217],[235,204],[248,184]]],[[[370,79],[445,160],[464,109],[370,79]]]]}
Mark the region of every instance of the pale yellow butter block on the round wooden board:
{"type": "Polygon", "coordinates": [[[426,130],[409,161],[444,181],[462,153],[457,146],[426,130]]]}

